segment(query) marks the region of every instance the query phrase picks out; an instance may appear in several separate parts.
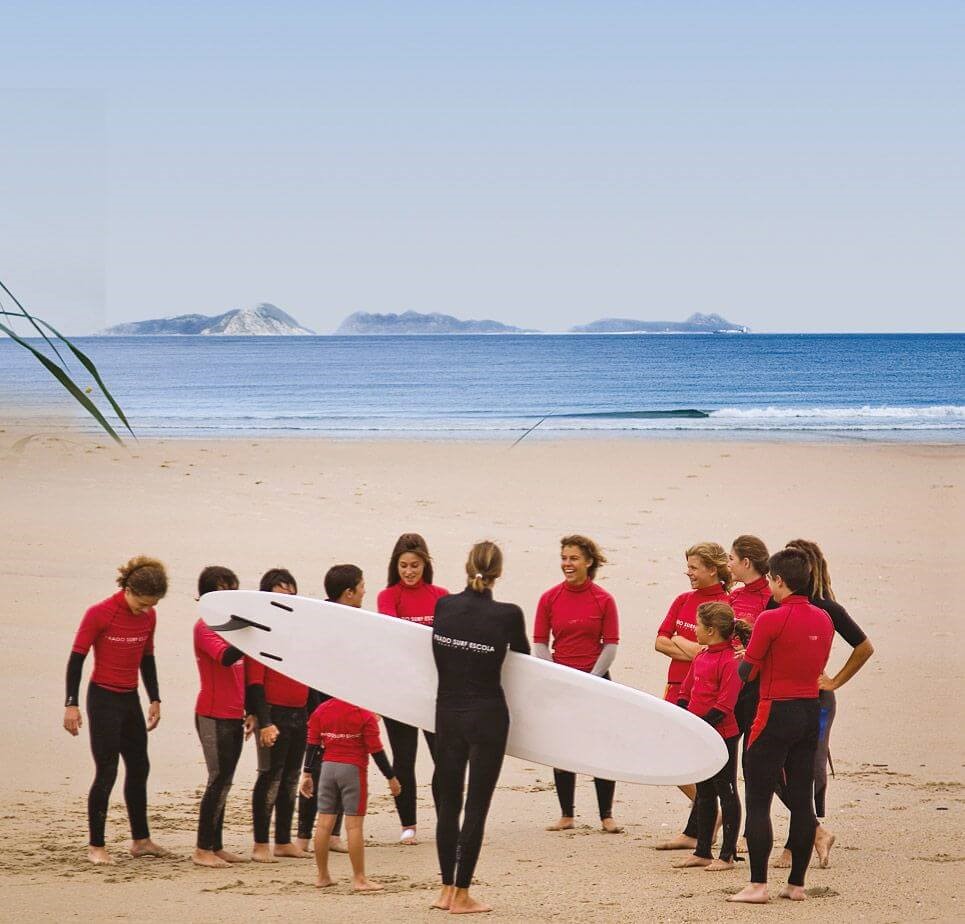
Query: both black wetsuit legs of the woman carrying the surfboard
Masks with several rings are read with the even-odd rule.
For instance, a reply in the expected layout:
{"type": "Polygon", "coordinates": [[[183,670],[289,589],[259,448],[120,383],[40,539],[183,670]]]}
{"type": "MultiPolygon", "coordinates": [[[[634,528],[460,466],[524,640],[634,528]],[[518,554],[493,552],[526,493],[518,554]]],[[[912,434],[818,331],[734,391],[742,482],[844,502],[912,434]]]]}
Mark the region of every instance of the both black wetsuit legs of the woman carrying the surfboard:
{"type": "Polygon", "coordinates": [[[443,885],[468,889],[472,882],[508,734],[509,712],[504,705],[465,712],[436,711],[433,791],[438,794],[436,850],[443,885]],[[460,828],[464,790],[466,813],[460,828]]]}

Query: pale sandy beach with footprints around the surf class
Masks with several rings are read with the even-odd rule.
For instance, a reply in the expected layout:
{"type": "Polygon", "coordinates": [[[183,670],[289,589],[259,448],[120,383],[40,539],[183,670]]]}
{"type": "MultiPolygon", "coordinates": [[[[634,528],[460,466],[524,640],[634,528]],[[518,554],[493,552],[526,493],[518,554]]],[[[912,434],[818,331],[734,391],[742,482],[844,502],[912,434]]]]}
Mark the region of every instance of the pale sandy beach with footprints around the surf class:
{"type": "MultiPolygon", "coordinates": [[[[719,874],[671,869],[674,855],[651,848],[685,819],[676,789],[618,785],[615,814],[627,833],[609,837],[597,831],[592,786],[581,779],[577,829],[548,833],[558,815],[551,770],[507,760],[477,872],[493,918],[961,920],[963,621],[947,601],[965,553],[965,447],[625,439],[532,440],[509,450],[238,439],[118,448],[97,437],[28,435],[0,432],[0,919],[434,920],[424,748],[416,848],[395,844],[391,802],[370,774],[367,865],[385,894],[351,895],[344,856],[333,860],[342,881],[325,894],[312,888],[311,861],[206,871],[188,859],[205,779],[193,725],[198,571],[225,564],[254,587],[265,569],[284,566],[302,593],[322,596],[325,570],[355,562],[374,606],[392,543],[411,530],[428,539],[437,583],[450,589],[462,586],[472,542],[500,543],[506,571],[496,596],[518,602],[530,625],[539,594],[560,579],[559,537],[594,537],[611,562],[600,582],[621,613],[614,677],[656,694],[666,660],[653,650],[654,634],[688,588],[683,550],[698,540],[729,545],[751,532],[772,549],[795,537],[818,541],[838,599],[876,650],[838,693],[826,822],[838,841],[831,867],[809,872],[809,901],[730,906],[725,895],[746,882],[746,865],[719,874]],[[138,553],[159,557],[172,578],[158,608],[163,713],[150,740],[149,794],[152,834],[178,858],[123,858],[119,782],[108,846],[120,862],[95,869],[85,861],[93,764],[86,728],[73,739],[61,727],[64,666],[84,610],[113,592],[116,566],[138,553]]],[[[830,668],[846,655],[838,639],[830,668]]],[[[89,669],[90,659],[85,686],[89,669]]],[[[250,846],[254,764],[249,743],[229,798],[230,849],[250,846]]],[[[784,809],[774,817],[782,843],[784,809]]],[[[775,872],[772,883],[784,881],[775,872]]]]}

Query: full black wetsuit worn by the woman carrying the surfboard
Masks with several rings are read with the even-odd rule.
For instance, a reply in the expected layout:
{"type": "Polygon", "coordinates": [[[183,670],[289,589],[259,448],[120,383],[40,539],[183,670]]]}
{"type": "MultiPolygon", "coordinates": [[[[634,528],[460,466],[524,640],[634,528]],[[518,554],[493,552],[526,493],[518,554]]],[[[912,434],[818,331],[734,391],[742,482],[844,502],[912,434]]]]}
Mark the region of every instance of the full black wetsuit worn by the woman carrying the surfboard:
{"type": "Polygon", "coordinates": [[[439,689],[434,788],[443,885],[468,889],[479,859],[509,735],[500,674],[510,648],[529,653],[523,611],[515,604],[495,602],[489,590],[468,588],[436,604],[432,653],[439,689]],[[460,828],[467,764],[469,787],[460,828]]]}

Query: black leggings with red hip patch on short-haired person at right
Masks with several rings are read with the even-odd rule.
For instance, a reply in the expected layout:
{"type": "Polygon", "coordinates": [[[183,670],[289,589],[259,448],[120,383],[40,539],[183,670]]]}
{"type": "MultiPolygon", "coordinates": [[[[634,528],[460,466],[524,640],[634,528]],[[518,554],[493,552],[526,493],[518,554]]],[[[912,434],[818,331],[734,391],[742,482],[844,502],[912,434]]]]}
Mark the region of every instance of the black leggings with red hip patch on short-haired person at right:
{"type": "Polygon", "coordinates": [[[774,846],[771,800],[783,769],[784,797],[791,810],[787,881],[804,885],[817,828],[813,791],[819,708],[817,699],[762,700],[758,708],[744,759],[751,882],[767,882],[767,861],[774,846]]]}

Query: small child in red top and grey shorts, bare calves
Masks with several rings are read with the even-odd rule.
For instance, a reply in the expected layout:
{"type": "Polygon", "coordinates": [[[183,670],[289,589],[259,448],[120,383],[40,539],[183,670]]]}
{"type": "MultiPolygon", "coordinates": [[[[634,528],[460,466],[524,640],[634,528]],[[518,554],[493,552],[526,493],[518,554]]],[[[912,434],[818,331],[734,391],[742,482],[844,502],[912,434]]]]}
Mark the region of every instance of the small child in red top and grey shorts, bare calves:
{"type": "Polygon", "coordinates": [[[398,796],[399,781],[379,739],[379,720],[374,713],[340,699],[321,704],[308,720],[308,748],[299,792],[312,796],[312,771],[322,761],[318,779],[318,826],[315,829],[315,863],[319,888],[333,884],[328,871],[328,848],[339,812],[345,815],[352,888],[356,892],[380,892],[383,886],[365,878],[363,825],[368,796],[366,779],[369,754],[398,796]]]}

